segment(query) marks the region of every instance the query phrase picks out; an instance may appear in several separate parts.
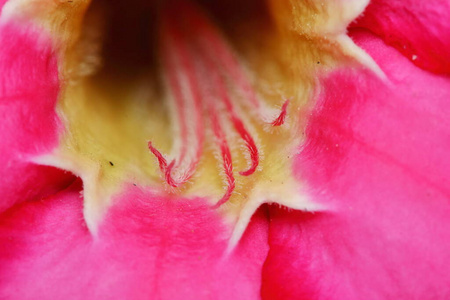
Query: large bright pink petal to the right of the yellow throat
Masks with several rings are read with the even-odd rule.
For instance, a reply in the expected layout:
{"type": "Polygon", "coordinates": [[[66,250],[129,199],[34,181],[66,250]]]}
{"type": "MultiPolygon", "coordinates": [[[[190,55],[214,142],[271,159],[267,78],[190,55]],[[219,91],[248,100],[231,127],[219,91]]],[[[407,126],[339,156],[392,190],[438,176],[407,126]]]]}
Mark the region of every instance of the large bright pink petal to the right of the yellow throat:
{"type": "Polygon", "coordinates": [[[450,80],[367,32],[363,70],[323,81],[296,169],[308,214],[272,208],[265,299],[450,298],[450,80]]]}

